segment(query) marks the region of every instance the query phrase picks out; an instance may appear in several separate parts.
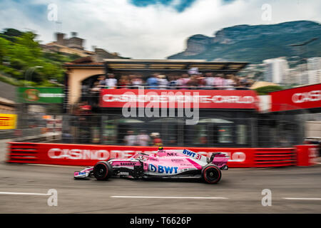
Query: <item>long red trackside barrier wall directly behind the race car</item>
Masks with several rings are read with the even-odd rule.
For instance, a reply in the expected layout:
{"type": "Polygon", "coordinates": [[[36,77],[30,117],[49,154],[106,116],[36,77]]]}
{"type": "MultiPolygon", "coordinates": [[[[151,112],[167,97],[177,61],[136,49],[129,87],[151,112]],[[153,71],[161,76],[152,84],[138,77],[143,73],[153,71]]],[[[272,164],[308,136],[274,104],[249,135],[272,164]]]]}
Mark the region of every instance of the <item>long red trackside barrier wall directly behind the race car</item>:
{"type": "MultiPolygon", "coordinates": [[[[224,152],[230,157],[229,167],[279,167],[289,165],[312,165],[306,162],[314,145],[289,148],[210,148],[210,147],[165,147],[165,149],[188,149],[210,156],[212,152],[224,152]],[[304,150],[303,150],[304,149],[304,150]],[[301,152],[304,151],[304,152],[301,152]]],[[[153,153],[157,147],[78,145],[34,142],[9,142],[8,162],[50,165],[95,165],[99,160],[128,158],[137,152],[153,153]]]]}

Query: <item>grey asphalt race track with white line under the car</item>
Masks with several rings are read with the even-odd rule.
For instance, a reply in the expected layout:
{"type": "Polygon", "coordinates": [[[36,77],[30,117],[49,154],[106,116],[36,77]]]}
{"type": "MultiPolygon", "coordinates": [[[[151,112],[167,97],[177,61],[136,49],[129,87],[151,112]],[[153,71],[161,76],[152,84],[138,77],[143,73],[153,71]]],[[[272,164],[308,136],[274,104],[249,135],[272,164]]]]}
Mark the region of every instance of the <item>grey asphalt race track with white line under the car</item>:
{"type": "MultiPolygon", "coordinates": [[[[7,140],[6,140],[7,141],[7,140]]],[[[73,180],[81,167],[4,162],[0,142],[0,214],[6,213],[320,213],[321,165],[223,171],[217,185],[198,180],[73,180]],[[57,206],[46,195],[57,191],[57,206]],[[272,205],[263,206],[269,189],[272,205]]]]}

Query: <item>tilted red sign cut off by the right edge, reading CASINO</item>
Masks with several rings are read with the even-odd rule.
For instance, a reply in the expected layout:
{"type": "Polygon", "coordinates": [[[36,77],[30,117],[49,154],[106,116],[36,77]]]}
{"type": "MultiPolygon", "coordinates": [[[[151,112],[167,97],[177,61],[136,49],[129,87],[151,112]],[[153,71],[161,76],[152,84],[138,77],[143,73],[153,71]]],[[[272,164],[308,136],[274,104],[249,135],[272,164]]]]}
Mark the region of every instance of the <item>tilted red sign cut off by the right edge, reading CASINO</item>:
{"type": "Polygon", "coordinates": [[[321,83],[271,92],[271,111],[321,108],[321,83]]]}

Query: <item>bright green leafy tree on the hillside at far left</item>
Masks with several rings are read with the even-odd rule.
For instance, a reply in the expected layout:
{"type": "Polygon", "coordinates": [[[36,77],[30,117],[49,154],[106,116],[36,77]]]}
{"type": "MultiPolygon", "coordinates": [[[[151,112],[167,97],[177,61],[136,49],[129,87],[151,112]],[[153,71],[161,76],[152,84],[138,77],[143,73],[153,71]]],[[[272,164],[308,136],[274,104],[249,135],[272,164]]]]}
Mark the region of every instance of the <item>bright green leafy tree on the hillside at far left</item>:
{"type": "Polygon", "coordinates": [[[72,61],[78,56],[64,56],[59,53],[48,53],[41,49],[37,35],[31,31],[21,32],[14,28],[6,28],[0,33],[0,72],[6,73],[25,83],[26,73],[29,73],[29,85],[54,85],[49,83],[55,78],[63,82],[63,63],[72,61]],[[7,36],[14,37],[8,39],[7,36]],[[35,68],[41,66],[41,68],[35,68]],[[31,69],[34,68],[34,71],[31,69]]]}

